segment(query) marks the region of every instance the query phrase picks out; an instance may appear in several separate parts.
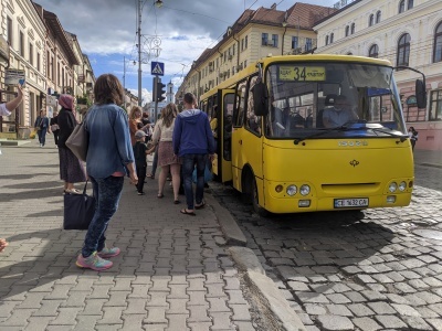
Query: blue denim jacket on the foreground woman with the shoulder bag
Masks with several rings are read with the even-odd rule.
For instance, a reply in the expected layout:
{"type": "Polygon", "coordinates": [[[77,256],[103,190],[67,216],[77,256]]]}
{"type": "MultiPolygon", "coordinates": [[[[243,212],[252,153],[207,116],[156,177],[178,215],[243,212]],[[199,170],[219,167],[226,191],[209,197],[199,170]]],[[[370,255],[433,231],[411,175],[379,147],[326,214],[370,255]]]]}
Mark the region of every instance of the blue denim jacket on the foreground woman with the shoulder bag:
{"type": "Polygon", "coordinates": [[[90,135],[87,174],[98,179],[116,171],[127,174],[126,164],[134,162],[134,151],[126,111],[114,104],[94,105],[85,121],[90,135]]]}

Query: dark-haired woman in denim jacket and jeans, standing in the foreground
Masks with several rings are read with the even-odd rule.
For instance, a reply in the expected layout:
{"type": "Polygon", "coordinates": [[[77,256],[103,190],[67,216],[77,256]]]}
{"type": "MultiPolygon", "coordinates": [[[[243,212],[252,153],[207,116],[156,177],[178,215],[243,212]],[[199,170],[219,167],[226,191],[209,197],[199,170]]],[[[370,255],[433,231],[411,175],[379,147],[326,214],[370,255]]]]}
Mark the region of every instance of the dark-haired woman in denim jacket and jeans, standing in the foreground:
{"type": "Polygon", "coordinates": [[[96,209],[76,265],[99,271],[112,267],[106,258],[120,253],[118,247],[106,247],[105,232],[118,209],[124,178],[129,175],[131,184],[137,184],[138,178],[127,114],[118,106],[123,104],[122,84],[116,76],[103,74],[95,83],[94,95],[95,105],[87,111],[85,128],[90,138],[86,171],[96,209]]]}

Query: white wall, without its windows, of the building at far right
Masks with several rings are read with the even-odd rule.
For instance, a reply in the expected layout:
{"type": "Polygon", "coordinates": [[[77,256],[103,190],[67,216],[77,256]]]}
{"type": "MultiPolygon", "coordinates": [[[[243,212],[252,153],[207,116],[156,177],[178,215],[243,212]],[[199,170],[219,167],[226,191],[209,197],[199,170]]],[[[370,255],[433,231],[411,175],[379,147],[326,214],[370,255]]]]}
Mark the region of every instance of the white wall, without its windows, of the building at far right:
{"type": "MultiPolygon", "coordinates": [[[[442,89],[442,63],[433,63],[434,32],[442,22],[442,1],[414,0],[413,8],[399,13],[399,0],[362,0],[348,6],[343,11],[314,26],[318,35],[318,49],[315,53],[348,54],[368,56],[369,49],[379,46],[379,58],[389,60],[397,65],[398,42],[403,33],[409,33],[410,57],[409,66],[421,71],[427,78],[429,103],[427,109],[409,109],[406,105],[404,114],[409,114],[408,122],[420,130],[417,148],[442,149],[442,121],[429,121],[430,94],[442,89]],[[369,15],[381,11],[381,20],[369,26],[369,15]],[[355,22],[356,31],[345,35],[345,26],[355,22]],[[326,36],[335,34],[334,42],[326,45],[326,36]],[[411,113],[410,113],[411,111],[411,113]]],[[[399,90],[403,95],[402,102],[414,94],[414,82],[421,76],[412,71],[394,73],[399,90]]],[[[406,114],[406,115],[407,115],[406,114]]],[[[406,116],[407,117],[407,116],[406,116]]],[[[407,119],[407,118],[406,118],[407,119]]]]}

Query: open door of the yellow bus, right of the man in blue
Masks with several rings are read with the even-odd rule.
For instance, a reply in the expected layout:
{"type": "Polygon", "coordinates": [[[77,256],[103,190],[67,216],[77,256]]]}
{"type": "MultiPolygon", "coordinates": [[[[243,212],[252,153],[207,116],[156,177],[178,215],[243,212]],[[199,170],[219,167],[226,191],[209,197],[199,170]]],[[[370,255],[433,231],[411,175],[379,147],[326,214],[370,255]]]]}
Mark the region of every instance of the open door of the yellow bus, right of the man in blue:
{"type": "Polygon", "coordinates": [[[217,153],[212,161],[212,172],[222,182],[232,180],[232,117],[233,117],[234,89],[220,89],[218,92],[218,138],[217,153]]]}

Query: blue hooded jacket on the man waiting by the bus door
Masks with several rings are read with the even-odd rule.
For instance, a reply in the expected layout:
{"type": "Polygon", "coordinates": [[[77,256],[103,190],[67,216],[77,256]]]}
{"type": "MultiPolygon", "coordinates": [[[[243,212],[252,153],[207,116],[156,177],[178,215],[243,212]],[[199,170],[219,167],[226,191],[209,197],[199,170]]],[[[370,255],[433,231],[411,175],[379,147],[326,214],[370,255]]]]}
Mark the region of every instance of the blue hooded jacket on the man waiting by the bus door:
{"type": "Polygon", "coordinates": [[[178,114],[172,136],[173,152],[185,154],[213,154],[214,140],[206,113],[188,109],[178,114]]]}

